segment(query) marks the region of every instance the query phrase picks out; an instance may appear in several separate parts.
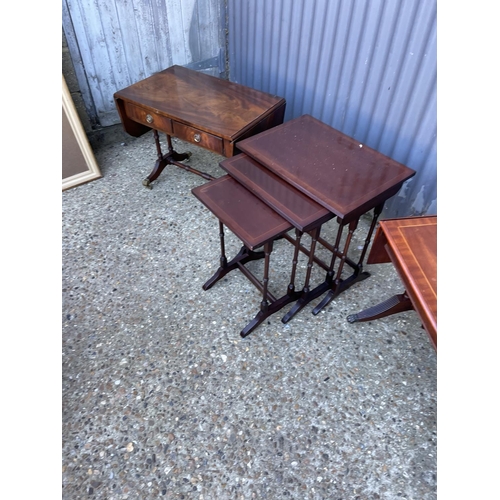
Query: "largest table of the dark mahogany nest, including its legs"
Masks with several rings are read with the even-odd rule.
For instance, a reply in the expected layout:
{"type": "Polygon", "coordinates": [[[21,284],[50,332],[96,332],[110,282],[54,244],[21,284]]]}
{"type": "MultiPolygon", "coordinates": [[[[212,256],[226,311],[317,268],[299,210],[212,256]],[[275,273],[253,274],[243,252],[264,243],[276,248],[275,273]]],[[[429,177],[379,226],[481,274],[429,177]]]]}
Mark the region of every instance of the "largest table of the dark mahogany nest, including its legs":
{"type": "Polygon", "coordinates": [[[415,175],[415,171],[310,115],[239,141],[237,146],[337,216],[339,227],[333,246],[320,238],[319,229],[316,235],[318,241],[332,251],[324,282],[301,296],[282,321],[286,323],[310,301],[328,292],[313,310],[313,314],[318,314],[341,292],[370,276],[363,272],[363,261],[377,219],[384,203],[415,175]],[[353,262],[348,256],[353,233],[359,218],[372,209],[373,219],[361,256],[353,262]],[[345,226],[349,228],[348,234],[340,248],[345,226]],[[353,273],[343,279],[346,263],[353,273]]]}

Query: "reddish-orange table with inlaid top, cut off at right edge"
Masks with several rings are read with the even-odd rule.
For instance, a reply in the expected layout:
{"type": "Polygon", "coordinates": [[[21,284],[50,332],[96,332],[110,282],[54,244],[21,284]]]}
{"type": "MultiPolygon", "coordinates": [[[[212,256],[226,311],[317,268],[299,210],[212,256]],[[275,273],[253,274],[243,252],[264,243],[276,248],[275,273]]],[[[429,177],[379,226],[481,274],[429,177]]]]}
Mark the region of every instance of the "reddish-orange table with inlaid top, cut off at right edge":
{"type": "Polygon", "coordinates": [[[347,317],[371,321],[414,309],[437,350],[437,216],[380,221],[368,264],[392,262],[405,292],[347,317]]]}

